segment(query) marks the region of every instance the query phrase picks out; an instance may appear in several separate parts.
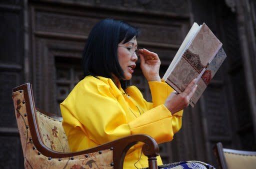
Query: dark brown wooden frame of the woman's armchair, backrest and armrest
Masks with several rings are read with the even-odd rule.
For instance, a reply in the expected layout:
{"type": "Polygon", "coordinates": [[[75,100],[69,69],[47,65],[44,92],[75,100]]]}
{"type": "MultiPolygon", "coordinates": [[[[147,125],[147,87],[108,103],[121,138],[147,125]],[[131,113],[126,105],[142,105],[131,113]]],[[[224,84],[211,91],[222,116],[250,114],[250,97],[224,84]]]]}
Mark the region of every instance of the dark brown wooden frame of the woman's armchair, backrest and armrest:
{"type": "MultiPolygon", "coordinates": [[[[33,99],[33,92],[32,92],[32,86],[30,83],[26,83],[23,85],[20,85],[18,87],[15,87],[12,89],[12,92],[16,91],[23,91],[24,92],[24,101],[26,103],[26,112],[27,112],[27,120],[29,125],[29,130],[31,133],[31,140],[34,144],[36,150],[40,152],[42,155],[50,158],[67,158],[67,157],[75,157],[79,155],[86,155],[89,153],[99,152],[102,150],[110,149],[113,151],[113,163],[111,166],[113,166],[113,169],[122,169],[123,166],[123,160],[125,157],[125,154],[127,153],[128,149],[137,144],[138,142],[145,143],[142,147],[142,152],[145,156],[148,157],[148,167],[149,169],[157,169],[157,162],[156,162],[156,156],[159,155],[159,149],[158,145],[155,142],[153,138],[146,135],[132,135],[128,137],[124,137],[109,143],[105,143],[103,145],[100,145],[98,147],[79,151],[79,152],[70,152],[70,153],[60,153],[53,151],[49,148],[47,148],[41,141],[39,131],[36,127],[36,120],[35,120],[35,112],[36,108],[34,105],[34,99],[33,99]]],[[[55,119],[61,119],[61,117],[58,117],[56,115],[49,115],[48,113],[45,113],[41,110],[39,110],[41,113],[46,114],[47,116],[50,116],[55,119]]]]}

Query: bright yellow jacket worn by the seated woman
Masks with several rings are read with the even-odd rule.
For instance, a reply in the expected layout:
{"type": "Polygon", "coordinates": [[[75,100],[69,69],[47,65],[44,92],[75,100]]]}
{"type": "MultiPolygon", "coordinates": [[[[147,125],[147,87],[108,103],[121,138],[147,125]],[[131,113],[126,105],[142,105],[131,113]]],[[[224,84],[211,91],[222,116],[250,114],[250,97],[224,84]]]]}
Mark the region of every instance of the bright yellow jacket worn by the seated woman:
{"type": "MultiPolygon", "coordinates": [[[[122,90],[109,78],[86,76],[60,104],[63,128],[71,151],[80,151],[134,134],[146,134],[159,143],[171,141],[181,127],[182,111],[173,116],[163,105],[173,91],[164,82],[148,82],[152,103],[135,86],[122,90]]],[[[123,168],[145,168],[141,147],[132,147],[123,168]],[[138,161],[138,162],[137,162],[138,161]],[[136,164],[135,164],[136,163],[136,164]]],[[[157,164],[162,164],[157,157],[157,164]]]]}

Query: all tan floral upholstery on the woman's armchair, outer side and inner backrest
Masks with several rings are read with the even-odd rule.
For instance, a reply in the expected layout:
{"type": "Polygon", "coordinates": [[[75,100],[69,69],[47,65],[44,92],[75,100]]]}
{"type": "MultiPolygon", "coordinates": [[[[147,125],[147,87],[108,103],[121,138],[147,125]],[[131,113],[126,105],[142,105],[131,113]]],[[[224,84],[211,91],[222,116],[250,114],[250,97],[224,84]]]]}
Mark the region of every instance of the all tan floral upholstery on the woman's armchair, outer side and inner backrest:
{"type": "MultiPolygon", "coordinates": [[[[74,157],[54,159],[42,155],[36,150],[29,131],[26,101],[23,91],[16,91],[12,94],[15,116],[18,131],[20,134],[21,146],[24,155],[25,169],[112,169],[112,151],[103,150],[100,152],[79,155],[74,157]]],[[[48,118],[40,112],[36,112],[36,119],[40,129],[41,139],[48,148],[54,151],[67,152],[68,145],[61,123],[48,118]],[[48,137],[47,137],[48,136],[48,137]],[[60,145],[63,144],[63,145],[60,145]]]]}

